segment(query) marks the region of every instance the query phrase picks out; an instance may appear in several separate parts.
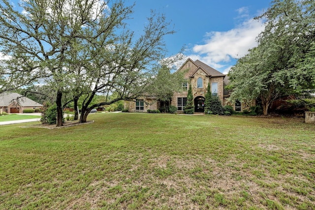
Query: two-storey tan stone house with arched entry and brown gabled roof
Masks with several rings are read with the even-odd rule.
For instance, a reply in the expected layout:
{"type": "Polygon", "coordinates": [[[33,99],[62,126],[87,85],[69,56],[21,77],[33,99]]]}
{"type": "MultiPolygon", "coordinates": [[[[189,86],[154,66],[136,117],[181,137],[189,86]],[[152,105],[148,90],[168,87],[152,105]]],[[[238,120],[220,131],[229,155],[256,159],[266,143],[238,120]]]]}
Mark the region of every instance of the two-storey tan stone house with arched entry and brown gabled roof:
{"type": "MultiPolygon", "coordinates": [[[[200,60],[193,61],[187,59],[177,71],[186,71],[184,77],[187,80],[186,83],[182,84],[183,91],[175,92],[171,99],[170,105],[177,107],[178,112],[183,112],[187,104],[189,84],[192,88],[195,112],[204,112],[205,93],[207,92],[209,83],[212,95],[220,98],[222,106],[230,105],[235,111],[240,112],[255,105],[254,100],[251,104],[247,105],[239,101],[234,104],[230,103],[227,100],[229,91],[224,89],[229,83],[228,77],[200,60]]],[[[129,112],[146,112],[148,109],[158,109],[159,103],[156,102],[152,104],[152,99],[139,98],[136,102],[125,102],[125,108],[128,109],[129,112]]]]}

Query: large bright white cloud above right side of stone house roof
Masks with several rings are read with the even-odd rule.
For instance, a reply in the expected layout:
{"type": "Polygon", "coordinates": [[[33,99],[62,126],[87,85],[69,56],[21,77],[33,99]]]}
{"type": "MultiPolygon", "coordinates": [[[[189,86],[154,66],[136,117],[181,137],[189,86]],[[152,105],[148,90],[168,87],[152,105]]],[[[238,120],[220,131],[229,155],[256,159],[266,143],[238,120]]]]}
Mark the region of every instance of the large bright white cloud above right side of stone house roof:
{"type": "Polygon", "coordinates": [[[255,39],[263,29],[261,20],[251,19],[228,31],[211,31],[206,33],[206,43],[195,45],[193,52],[206,54],[210,63],[229,62],[231,58],[245,56],[250,48],[257,46],[255,39]]]}

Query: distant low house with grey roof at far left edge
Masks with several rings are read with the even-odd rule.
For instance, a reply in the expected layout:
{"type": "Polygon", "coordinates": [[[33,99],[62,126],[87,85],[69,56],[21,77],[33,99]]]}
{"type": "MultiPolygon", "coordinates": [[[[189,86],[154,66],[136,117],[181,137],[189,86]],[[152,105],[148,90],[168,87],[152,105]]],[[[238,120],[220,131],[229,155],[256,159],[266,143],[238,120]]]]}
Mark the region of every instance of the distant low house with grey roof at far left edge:
{"type": "Polygon", "coordinates": [[[24,109],[41,108],[43,105],[27,98],[19,93],[4,92],[0,94],[0,109],[2,112],[23,113],[24,109]]]}

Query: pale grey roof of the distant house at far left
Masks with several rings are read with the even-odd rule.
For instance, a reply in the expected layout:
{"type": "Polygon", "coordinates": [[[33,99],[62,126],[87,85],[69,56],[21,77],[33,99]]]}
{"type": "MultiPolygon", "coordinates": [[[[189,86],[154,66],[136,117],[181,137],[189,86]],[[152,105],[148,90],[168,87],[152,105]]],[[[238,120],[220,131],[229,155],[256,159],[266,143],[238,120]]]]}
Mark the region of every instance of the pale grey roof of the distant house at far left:
{"type": "Polygon", "coordinates": [[[16,92],[4,92],[0,94],[0,106],[8,106],[13,101],[17,101],[19,105],[21,106],[32,106],[32,107],[38,107],[43,106],[40,103],[37,103],[36,101],[31,100],[30,98],[27,98],[19,93],[16,92]]]}

